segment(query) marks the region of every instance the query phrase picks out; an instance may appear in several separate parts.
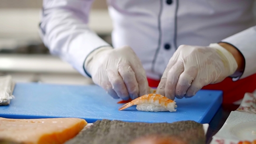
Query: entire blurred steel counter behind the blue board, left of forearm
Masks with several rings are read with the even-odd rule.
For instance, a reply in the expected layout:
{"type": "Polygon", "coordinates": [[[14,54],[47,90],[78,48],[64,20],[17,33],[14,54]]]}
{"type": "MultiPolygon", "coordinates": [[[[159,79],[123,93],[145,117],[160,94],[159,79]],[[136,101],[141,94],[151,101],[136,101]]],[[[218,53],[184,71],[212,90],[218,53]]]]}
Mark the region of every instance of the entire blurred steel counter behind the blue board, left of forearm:
{"type": "Polygon", "coordinates": [[[93,84],[69,63],[51,55],[0,54],[0,75],[5,74],[12,75],[16,82],[93,84]]]}

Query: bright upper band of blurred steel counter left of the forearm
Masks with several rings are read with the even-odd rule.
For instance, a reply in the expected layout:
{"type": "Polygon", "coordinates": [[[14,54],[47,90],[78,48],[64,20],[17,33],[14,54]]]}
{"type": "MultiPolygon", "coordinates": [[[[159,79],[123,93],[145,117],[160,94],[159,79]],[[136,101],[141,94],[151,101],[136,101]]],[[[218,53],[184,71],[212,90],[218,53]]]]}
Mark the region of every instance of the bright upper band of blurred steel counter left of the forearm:
{"type": "Polygon", "coordinates": [[[0,54],[0,71],[79,74],[72,65],[52,55],[0,54]]]}

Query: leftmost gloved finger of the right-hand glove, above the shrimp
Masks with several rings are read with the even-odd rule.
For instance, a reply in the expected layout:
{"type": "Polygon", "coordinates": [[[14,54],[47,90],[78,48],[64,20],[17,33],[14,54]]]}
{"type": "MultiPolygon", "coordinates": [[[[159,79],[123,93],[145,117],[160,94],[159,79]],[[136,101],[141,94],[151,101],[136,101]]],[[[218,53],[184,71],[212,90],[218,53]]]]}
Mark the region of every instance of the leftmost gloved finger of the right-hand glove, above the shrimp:
{"type": "Polygon", "coordinates": [[[174,60],[171,60],[169,61],[167,67],[165,68],[164,70],[164,73],[161,77],[161,80],[158,84],[158,88],[157,88],[157,91],[156,93],[159,94],[159,95],[165,95],[165,86],[166,86],[166,81],[167,81],[167,74],[168,72],[170,71],[171,67],[176,63],[176,61],[174,60]]]}

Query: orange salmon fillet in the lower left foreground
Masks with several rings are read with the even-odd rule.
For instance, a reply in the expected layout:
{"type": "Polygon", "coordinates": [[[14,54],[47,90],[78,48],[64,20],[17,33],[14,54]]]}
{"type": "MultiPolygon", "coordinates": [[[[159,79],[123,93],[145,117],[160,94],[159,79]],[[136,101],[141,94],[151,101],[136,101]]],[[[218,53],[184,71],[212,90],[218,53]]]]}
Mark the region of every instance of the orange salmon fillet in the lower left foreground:
{"type": "Polygon", "coordinates": [[[0,118],[0,139],[23,144],[62,144],[75,137],[86,124],[80,118],[0,118]]]}

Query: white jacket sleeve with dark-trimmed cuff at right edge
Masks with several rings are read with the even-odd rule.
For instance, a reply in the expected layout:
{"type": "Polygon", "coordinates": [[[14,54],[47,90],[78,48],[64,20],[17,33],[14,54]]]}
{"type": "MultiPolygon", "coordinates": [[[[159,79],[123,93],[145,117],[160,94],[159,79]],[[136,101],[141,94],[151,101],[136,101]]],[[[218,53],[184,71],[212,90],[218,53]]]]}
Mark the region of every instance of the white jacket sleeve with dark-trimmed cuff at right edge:
{"type": "Polygon", "coordinates": [[[230,43],[235,46],[243,54],[245,59],[243,74],[237,78],[233,78],[233,81],[246,78],[256,73],[256,26],[223,39],[222,42],[230,43]]]}

